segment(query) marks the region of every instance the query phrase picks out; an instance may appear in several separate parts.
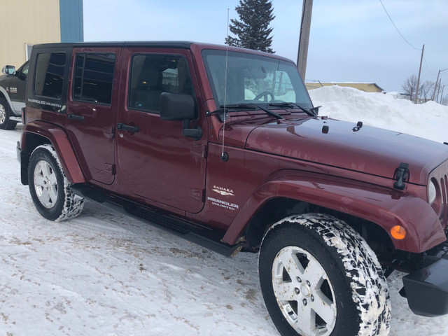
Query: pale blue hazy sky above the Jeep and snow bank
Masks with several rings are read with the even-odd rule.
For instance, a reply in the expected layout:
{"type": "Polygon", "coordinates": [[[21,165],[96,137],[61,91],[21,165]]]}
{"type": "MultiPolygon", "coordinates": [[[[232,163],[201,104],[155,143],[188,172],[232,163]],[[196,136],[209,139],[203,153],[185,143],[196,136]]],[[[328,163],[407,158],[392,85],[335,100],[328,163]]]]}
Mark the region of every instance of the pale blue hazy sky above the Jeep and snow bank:
{"type": "MultiPolygon", "coordinates": [[[[377,83],[386,92],[448,68],[448,1],[314,1],[306,80],[377,83]],[[406,41],[405,41],[406,40],[406,41]]],[[[239,0],[84,0],[85,41],[188,40],[223,44],[239,0]]],[[[272,48],[297,62],[302,1],[272,0],[272,48]]],[[[440,73],[448,84],[448,70],[440,73]]]]}

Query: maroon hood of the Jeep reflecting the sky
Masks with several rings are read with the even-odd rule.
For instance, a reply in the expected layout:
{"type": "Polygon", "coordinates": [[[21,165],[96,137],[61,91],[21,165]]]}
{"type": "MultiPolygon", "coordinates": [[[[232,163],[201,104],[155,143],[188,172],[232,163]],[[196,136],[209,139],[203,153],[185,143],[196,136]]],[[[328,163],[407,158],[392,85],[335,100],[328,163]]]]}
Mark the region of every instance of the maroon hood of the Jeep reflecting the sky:
{"type": "Polygon", "coordinates": [[[444,144],[376,127],[357,129],[353,123],[326,118],[279,120],[252,128],[247,134],[245,146],[252,151],[388,179],[393,179],[404,162],[409,165],[409,182],[420,185],[426,185],[428,174],[448,158],[444,144]]]}

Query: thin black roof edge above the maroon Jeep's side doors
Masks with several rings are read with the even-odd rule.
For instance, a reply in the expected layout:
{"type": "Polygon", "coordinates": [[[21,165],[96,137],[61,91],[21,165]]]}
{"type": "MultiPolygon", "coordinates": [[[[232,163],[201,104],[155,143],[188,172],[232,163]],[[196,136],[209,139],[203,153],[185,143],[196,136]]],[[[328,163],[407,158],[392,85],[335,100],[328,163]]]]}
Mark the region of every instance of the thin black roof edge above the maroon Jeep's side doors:
{"type": "Polygon", "coordinates": [[[43,43],[33,45],[33,48],[107,48],[107,47],[148,47],[190,49],[192,41],[121,41],[121,42],[76,42],[76,43],[43,43]]]}

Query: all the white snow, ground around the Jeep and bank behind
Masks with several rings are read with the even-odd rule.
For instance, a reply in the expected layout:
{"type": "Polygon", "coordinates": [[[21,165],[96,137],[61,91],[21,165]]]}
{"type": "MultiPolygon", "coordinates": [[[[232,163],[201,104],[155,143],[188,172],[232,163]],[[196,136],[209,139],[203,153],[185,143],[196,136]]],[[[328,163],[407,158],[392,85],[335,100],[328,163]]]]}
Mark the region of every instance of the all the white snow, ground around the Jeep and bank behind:
{"type": "MultiPolygon", "coordinates": [[[[324,87],[321,115],[448,141],[448,108],[324,87]],[[445,138],[445,139],[444,139],[445,138]]],[[[71,221],[43,219],[20,184],[15,131],[0,130],[0,335],[278,335],[257,255],[225,258],[87,202],[71,221]]],[[[388,279],[390,335],[448,335],[448,317],[415,316],[388,279]]]]}

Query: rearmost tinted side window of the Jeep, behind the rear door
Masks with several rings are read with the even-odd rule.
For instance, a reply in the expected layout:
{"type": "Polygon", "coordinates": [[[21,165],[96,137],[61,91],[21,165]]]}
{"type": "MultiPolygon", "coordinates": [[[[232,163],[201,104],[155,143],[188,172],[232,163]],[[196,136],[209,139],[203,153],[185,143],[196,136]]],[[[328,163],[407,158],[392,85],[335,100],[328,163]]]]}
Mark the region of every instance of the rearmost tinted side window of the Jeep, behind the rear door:
{"type": "Polygon", "coordinates": [[[42,52],[37,56],[34,94],[59,99],[64,83],[65,52],[42,52]]]}

